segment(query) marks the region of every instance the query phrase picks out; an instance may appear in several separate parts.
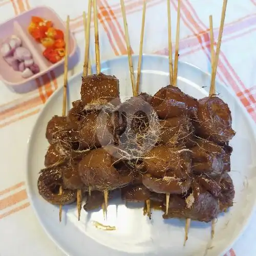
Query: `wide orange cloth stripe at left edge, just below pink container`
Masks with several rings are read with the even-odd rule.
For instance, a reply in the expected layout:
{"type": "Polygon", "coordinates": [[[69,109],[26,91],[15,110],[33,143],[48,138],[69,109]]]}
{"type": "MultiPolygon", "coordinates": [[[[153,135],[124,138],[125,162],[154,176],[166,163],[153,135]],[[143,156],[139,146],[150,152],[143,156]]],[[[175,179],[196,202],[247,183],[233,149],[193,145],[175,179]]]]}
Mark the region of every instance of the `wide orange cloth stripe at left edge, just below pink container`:
{"type": "Polygon", "coordinates": [[[29,110],[31,108],[34,108],[35,106],[38,106],[40,104],[41,104],[41,100],[40,100],[39,96],[32,98],[28,101],[19,103],[10,109],[0,112],[0,121],[4,120],[6,118],[12,117],[14,115],[20,114],[20,113],[22,113],[26,110],[29,110]]]}

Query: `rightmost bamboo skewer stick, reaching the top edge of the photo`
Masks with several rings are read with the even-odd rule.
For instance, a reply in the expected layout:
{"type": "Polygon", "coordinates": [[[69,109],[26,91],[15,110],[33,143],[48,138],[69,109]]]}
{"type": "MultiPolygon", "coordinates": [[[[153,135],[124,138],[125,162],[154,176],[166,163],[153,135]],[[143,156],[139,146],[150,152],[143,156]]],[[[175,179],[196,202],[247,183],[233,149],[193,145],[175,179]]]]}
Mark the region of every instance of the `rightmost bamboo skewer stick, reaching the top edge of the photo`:
{"type": "Polygon", "coordinates": [[[224,0],[223,6],[222,6],[221,25],[220,25],[218,43],[217,43],[216,54],[215,54],[215,59],[214,59],[214,70],[213,70],[213,73],[211,76],[210,87],[214,86],[214,84],[215,84],[215,78],[216,78],[219,54],[220,54],[220,48],[221,48],[221,39],[222,39],[224,21],[225,21],[225,15],[226,15],[226,8],[227,8],[227,0],[224,0]]]}

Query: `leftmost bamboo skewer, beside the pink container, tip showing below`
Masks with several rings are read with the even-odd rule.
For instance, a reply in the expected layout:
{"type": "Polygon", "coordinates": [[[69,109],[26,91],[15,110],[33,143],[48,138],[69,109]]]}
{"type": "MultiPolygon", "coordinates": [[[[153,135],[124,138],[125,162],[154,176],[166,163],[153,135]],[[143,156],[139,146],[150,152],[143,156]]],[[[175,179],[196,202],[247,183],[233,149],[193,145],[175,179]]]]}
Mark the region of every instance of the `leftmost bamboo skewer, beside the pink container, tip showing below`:
{"type": "MultiPolygon", "coordinates": [[[[69,58],[69,21],[70,17],[67,16],[66,22],[66,48],[65,48],[65,62],[64,62],[64,80],[63,80],[63,102],[62,102],[62,116],[66,116],[66,108],[67,108],[67,84],[68,84],[68,58],[69,58]]],[[[62,195],[62,187],[59,187],[59,194],[62,195]]],[[[62,219],[62,205],[59,205],[59,222],[62,219]]]]}

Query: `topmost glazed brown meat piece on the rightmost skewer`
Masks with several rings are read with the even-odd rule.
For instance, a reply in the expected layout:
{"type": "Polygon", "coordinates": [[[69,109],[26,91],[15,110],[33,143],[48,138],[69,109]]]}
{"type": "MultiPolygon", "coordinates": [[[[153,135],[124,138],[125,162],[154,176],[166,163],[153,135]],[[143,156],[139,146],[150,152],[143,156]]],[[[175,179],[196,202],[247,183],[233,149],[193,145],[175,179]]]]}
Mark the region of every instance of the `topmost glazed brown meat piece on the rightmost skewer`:
{"type": "Polygon", "coordinates": [[[199,100],[197,133],[200,137],[225,143],[236,134],[231,127],[231,112],[219,97],[205,97],[199,100]]]}

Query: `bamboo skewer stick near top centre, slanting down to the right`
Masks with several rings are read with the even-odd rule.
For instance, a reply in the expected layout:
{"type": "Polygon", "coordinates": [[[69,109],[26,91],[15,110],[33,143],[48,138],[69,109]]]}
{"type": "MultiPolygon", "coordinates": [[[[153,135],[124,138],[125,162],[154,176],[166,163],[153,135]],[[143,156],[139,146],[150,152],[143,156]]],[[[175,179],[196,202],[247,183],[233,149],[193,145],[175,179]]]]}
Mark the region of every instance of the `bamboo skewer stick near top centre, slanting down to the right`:
{"type": "Polygon", "coordinates": [[[129,68],[130,68],[130,76],[131,76],[131,82],[132,82],[132,88],[133,88],[133,96],[137,96],[136,88],[135,88],[135,81],[134,81],[132,48],[131,48],[131,45],[130,45],[129,31],[128,31],[128,25],[127,25],[127,19],[126,19],[126,13],[125,13],[125,7],[124,7],[123,0],[120,0],[120,3],[121,3],[122,15],[123,15],[123,27],[124,27],[124,32],[125,32],[125,41],[126,41],[129,68]]]}

